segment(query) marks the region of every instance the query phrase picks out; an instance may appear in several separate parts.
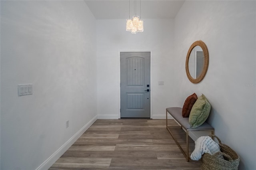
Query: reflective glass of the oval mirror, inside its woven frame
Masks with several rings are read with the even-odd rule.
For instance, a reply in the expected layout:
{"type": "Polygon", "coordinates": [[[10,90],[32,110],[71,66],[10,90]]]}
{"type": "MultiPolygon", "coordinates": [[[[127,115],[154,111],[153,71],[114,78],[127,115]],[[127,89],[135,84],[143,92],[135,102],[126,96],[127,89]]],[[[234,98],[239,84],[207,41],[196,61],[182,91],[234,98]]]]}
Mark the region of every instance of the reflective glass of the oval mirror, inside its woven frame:
{"type": "Polygon", "coordinates": [[[204,67],[204,52],[202,48],[195,46],[189,56],[188,71],[193,79],[196,79],[202,73],[204,67]]]}

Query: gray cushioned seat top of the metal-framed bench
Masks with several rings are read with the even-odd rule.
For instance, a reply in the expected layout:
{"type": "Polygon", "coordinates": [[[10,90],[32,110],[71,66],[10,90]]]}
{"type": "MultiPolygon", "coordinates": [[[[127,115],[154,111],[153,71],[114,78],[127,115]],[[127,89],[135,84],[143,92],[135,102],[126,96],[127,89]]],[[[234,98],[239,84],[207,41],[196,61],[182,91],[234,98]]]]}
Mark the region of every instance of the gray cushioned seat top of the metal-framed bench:
{"type": "Polygon", "coordinates": [[[186,130],[194,129],[194,130],[205,130],[205,129],[214,129],[211,125],[204,122],[201,126],[192,128],[191,125],[188,123],[188,117],[182,117],[182,108],[181,107],[169,107],[166,108],[166,111],[172,115],[172,117],[180,123],[182,127],[186,130]]]}

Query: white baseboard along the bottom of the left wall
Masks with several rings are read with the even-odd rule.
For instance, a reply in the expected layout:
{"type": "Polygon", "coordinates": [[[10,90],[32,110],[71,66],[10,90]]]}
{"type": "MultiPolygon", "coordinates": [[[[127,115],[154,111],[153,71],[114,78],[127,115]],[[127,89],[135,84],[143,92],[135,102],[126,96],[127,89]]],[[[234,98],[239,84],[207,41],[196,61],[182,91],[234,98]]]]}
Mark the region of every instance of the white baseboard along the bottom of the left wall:
{"type": "Polygon", "coordinates": [[[92,118],[84,127],[82,127],[74,136],[72,136],[64,145],[62,145],[54,154],[52,154],[44,163],[42,163],[36,170],[48,170],[62,154],[70,148],[74,142],[97,120],[97,115],[92,118]]]}

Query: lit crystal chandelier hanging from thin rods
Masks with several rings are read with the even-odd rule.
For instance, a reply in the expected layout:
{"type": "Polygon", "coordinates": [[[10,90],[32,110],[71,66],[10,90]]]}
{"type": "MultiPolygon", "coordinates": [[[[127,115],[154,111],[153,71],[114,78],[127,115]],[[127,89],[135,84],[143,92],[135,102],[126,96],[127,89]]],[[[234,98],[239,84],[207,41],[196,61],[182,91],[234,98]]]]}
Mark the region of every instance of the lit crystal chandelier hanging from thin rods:
{"type": "MultiPolygon", "coordinates": [[[[134,16],[130,18],[130,0],[129,0],[129,19],[126,20],[126,31],[136,34],[137,32],[143,32],[144,26],[141,17],[137,16],[136,11],[136,0],[134,0],[134,16]]],[[[140,13],[141,13],[141,0],[140,0],[140,13]]],[[[141,15],[140,15],[141,16],[141,15]]]]}

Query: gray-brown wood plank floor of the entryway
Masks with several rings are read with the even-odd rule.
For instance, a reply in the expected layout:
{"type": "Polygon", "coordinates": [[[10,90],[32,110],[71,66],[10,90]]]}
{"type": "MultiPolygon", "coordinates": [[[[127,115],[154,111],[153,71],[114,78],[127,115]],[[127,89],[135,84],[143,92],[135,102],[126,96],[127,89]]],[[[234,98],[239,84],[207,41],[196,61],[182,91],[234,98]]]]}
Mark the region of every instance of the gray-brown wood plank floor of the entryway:
{"type": "MultiPolygon", "coordinates": [[[[169,120],[168,125],[177,124],[169,120]]],[[[185,149],[185,132],[176,129],[174,134],[185,149]]],[[[194,141],[189,142],[191,154],[194,141]]],[[[201,161],[186,162],[165,120],[99,119],[49,170],[61,169],[200,170],[201,161]]]]}

